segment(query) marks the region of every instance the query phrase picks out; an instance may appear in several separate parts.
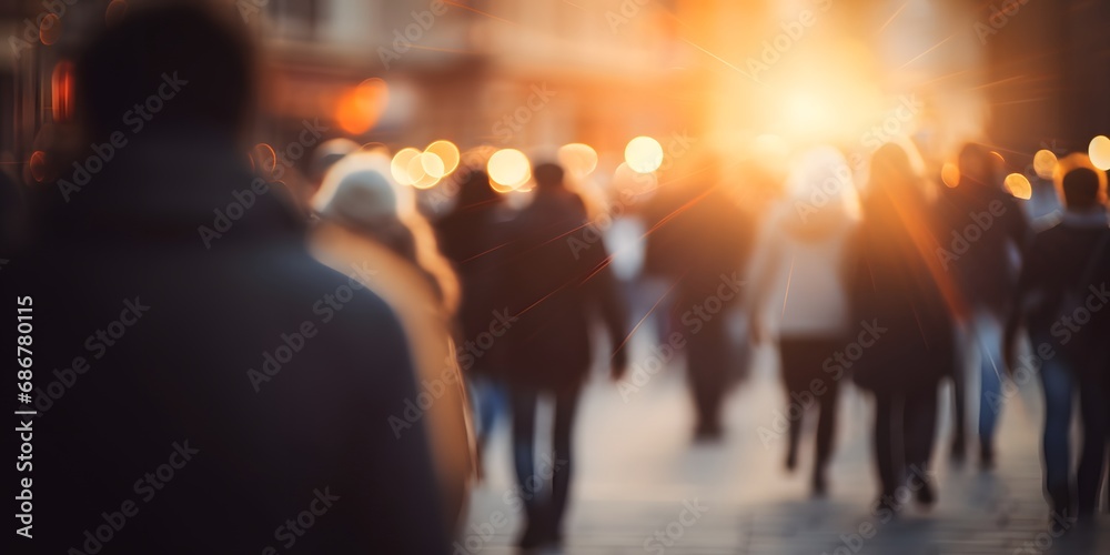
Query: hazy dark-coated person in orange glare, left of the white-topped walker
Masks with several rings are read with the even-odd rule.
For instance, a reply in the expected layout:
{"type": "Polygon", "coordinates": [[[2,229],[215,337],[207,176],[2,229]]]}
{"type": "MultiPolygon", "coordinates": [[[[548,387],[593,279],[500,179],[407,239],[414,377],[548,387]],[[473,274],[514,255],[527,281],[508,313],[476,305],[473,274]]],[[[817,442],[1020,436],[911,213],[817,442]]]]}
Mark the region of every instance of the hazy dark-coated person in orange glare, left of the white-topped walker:
{"type": "Polygon", "coordinates": [[[745,265],[755,225],[728,193],[719,162],[660,188],[648,234],[648,271],[674,283],[670,316],[688,345],[686,374],[694,400],[694,437],[716,441],[724,433],[722,408],[734,357],[728,316],[747,286],[745,265]]]}

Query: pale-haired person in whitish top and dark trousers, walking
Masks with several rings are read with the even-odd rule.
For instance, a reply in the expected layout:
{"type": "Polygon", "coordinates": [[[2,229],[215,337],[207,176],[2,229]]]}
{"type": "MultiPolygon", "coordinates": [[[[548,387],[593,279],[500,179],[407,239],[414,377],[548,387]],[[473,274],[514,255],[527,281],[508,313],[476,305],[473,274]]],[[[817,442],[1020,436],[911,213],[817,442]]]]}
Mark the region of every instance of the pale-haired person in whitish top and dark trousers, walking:
{"type": "Polygon", "coordinates": [[[847,255],[859,204],[848,162],[831,147],[807,152],[787,185],[790,195],[768,216],[753,260],[750,330],[760,341],[769,320],[764,314],[777,316],[785,400],[801,410],[789,418],[786,468],[797,467],[803,421],[811,406],[817,438],[810,484],[815,495],[824,495],[845,373],[829,373],[825,362],[847,342],[847,255]]]}

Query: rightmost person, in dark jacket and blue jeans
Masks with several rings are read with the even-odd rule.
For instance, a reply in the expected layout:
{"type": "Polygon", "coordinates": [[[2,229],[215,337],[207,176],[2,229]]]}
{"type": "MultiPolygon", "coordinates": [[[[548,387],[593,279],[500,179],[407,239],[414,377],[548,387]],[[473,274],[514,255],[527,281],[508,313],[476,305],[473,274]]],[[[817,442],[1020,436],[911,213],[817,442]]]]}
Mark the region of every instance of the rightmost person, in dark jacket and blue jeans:
{"type": "Polygon", "coordinates": [[[1045,392],[1045,491],[1053,526],[1098,506],[1106,464],[1110,381],[1110,224],[1106,174],[1086,154],[1060,161],[1057,185],[1064,213],[1033,238],[1018,281],[1015,312],[1006,326],[1006,351],[1027,325],[1032,354],[1008,364],[1012,372],[1040,371],[1045,392]],[[1017,367],[1015,367],[1017,366],[1017,367]],[[1071,472],[1072,401],[1077,394],[1083,444],[1077,474],[1071,472]]]}

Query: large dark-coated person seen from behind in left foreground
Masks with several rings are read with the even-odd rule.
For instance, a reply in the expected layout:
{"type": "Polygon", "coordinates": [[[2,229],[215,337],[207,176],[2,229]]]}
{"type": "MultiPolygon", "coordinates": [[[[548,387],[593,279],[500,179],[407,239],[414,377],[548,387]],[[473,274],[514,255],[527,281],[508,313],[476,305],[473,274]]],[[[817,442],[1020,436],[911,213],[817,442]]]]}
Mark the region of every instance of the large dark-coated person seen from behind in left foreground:
{"type": "Polygon", "coordinates": [[[84,144],[128,142],[70,202],[39,190],[43,233],[4,269],[33,316],[34,526],[18,551],[447,553],[396,317],[307,254],[245,165],[246,30],[150,10],[78,63],[84,144]],[[175,97],[119,131],[164,75],[175,97]]]}

